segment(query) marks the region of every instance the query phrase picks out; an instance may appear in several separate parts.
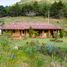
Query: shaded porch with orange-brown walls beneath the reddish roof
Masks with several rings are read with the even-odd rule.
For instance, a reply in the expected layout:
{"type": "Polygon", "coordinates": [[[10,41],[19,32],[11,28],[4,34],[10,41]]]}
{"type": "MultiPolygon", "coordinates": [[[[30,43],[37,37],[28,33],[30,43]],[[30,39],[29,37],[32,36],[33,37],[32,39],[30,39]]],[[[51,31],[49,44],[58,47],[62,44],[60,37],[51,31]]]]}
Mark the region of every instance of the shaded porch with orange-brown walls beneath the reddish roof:
{"type": "MultiPolygon", "coordinates": [[[[15,39],[21,39],[24,37],[29,37],[29,30],[11,30],[11,37],[15,39]]],[[[36,36],[35,34],[32,35],[32,38],[53,38],[54,31],[58,32],[59,30],[35,30],[38,33],[36,36]]]]}

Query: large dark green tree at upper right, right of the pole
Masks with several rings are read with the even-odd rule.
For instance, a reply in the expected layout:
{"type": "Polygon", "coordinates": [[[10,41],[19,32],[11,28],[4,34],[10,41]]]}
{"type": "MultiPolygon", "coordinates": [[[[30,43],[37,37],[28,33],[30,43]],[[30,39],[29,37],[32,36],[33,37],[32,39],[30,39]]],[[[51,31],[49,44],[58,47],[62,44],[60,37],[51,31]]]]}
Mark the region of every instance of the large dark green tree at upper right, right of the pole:
{"type": "Polygon", "coordinates": [[[50,15],[53,18],[60,18],[63,16],[64,4],[62,1],[54,2],[50,8],[50,15]]]}

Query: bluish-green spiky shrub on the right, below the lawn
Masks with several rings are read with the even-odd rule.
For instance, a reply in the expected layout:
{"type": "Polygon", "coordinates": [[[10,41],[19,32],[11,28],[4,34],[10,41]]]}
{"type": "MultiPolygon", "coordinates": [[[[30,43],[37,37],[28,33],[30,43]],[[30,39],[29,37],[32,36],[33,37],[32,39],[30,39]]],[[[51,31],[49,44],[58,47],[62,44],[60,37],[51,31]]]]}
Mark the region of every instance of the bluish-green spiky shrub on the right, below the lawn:
{"type": "Polygon", "coordinates": [[[54,44],[52,43],[48,43],[46,45],[41,46],[40,52],[44,55],[45,54],[48,54],[50,56],[57,55],[59,52],[59,48],[54,46],[54,44]]]}

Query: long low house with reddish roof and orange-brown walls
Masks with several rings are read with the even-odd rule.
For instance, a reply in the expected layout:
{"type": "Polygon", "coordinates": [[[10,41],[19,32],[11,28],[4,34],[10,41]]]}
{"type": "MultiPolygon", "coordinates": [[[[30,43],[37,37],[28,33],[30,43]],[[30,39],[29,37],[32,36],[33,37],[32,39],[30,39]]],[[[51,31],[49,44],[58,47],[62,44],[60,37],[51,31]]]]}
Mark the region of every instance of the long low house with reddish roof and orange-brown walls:
{"type": "MultiPolygon", "coordinates": [[[[29,36],[29,29],[32,28],[34,31],[38,32],[37,37],[47,38],[54,37],[54,32],[60,31],[62,28],[48,23],[43,22],[17,22],[4,24],[1,27],[2,32],[11,32],[11,36],[14,38],[23,38],[29,36]]],[[[32,35],[35,37],[35,35],[32,35]]]]}

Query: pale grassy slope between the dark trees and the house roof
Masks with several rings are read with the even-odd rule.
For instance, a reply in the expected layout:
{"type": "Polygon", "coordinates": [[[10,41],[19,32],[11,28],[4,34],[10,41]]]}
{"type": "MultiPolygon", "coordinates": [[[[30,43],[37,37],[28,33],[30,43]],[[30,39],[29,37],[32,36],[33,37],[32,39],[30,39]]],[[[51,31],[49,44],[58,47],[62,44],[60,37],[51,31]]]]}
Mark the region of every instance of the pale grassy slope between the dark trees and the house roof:
{"type": "MultiPolygon", "coordinates": [[[[44,22],[48,23],[48,18],[45,17],[3,17],[0,20],[4,21],[5,23],[10,22],[44,22]]],[[[50,18],[50,23],[54,25],[61,25],[62,27],[67,27],[67,19],[53,19],[50,18]]]]}

